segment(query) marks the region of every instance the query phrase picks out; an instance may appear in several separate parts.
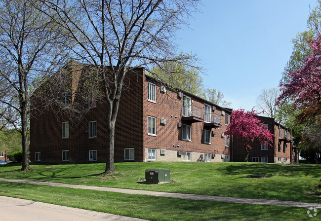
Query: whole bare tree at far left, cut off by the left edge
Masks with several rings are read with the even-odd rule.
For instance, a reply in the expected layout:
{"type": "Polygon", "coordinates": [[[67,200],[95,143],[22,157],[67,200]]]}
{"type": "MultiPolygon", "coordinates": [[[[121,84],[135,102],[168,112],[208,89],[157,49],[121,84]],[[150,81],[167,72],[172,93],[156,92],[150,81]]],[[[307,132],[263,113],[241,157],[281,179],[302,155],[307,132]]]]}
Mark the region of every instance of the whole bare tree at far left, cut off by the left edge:
{"type": "Polygon", "coordinates": [[[0,116],[22,137],[21,170],[29,170],[30,98],[62,62],[63,41],[37,0],[0,0],[0,116]]]}

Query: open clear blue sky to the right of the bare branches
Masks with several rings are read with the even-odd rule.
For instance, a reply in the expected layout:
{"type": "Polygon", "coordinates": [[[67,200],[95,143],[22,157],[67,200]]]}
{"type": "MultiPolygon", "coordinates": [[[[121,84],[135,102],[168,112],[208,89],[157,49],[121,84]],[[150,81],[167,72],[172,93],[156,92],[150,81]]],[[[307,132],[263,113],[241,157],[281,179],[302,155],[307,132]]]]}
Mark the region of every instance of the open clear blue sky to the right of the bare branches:
{"type": "Polygon", "coordinates": [[[233,109],[251,110],[262,89],[279,86],[291,39],[306,29],[316,0],[203,0],[190,28],[176,33],[179,49],[196,53],[209,88],[233,109]]]}

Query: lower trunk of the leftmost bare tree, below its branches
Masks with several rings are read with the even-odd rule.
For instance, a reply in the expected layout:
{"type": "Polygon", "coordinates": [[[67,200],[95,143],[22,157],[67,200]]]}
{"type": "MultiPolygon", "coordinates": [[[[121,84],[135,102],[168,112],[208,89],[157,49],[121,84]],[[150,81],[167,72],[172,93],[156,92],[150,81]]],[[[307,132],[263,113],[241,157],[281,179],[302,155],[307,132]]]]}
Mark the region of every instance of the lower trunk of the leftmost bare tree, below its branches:
{"type": "Polygon", "coordinates": [[[22,112],[22,116],[21,116],[21,137],[22,137],[22,168],[21,168],[21,170],[27,171],[27,170],[30,170],[27,108],[22,107],[22,111],[23,112],[22,112]]]}

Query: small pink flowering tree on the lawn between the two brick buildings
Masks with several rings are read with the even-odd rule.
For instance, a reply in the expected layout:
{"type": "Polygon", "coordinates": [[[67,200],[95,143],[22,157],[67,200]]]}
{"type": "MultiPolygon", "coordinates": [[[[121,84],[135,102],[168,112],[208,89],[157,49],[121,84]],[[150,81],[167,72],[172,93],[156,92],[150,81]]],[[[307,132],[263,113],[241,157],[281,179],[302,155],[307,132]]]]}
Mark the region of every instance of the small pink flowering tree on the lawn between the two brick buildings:
{"type": "Polygon", "coordinates": [[[272,147],[273,138],[275,137],[255,116],[257,114],[259,113],[256,113],[253,109],[251,111],[245,111],[244,109],[233,111],[231,123],[224,132],[226,135],[242,140],[246,151],[246,162],[248,161],[249,150],[252,149],[250,145],[252,145],[254,139],[258,139],[262,145],[265,144],[265,141],[268,141],[272,147]]]}

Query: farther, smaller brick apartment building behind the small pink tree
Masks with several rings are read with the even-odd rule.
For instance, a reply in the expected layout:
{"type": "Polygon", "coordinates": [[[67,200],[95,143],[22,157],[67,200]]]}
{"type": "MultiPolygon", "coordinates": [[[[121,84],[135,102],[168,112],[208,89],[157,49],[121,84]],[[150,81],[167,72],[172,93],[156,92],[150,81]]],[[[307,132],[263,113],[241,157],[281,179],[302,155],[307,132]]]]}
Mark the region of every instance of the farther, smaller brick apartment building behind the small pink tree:
{"type": "MultiPolygon", "coordinates": [[[[273,144],[261,145],[254,141],[250,146],[248,161],[265,163],[298,163],[298,152],[293,149],[293,138],[291,129],[275,122],[274,118],[257,116],[261,122],[275,135],[273,144]]],[[[245,149],[241,139],[233,139],[232,159],[235,162],[242,162],[245,159],[245,149]]]]}

